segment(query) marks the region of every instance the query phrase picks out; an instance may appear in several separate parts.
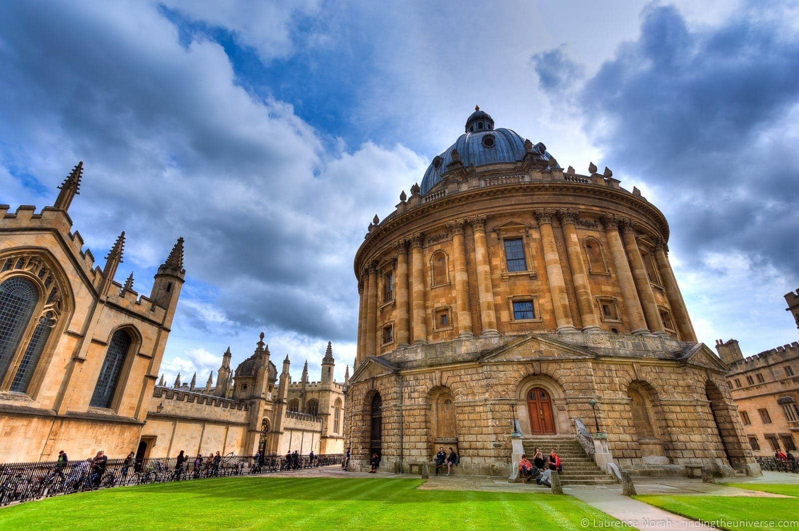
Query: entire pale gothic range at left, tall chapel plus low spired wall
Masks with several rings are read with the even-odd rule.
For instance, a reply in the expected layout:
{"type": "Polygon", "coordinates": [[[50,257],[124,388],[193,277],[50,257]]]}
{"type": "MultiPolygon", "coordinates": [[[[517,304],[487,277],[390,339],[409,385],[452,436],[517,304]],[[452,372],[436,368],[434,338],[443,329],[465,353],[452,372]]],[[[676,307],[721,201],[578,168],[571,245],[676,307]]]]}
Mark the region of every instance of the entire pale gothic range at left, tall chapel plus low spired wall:
{"type": "Polygon", "coordinates": [[[54,206],[36,213],[0,205],[0,459],[174,457],[189,453],[252,455],[341,453],[344,384],[333,381],[328,344],[320,381],[280,376],[264,334],[233,373],[230,349],[217,384],[157,383],[181,286],[183,239],[157,269],[149,297],[114,281],[121,233],[105,264],[94,265],[72,231],[70,203],[83,163],[62,184],[54,206]]]}

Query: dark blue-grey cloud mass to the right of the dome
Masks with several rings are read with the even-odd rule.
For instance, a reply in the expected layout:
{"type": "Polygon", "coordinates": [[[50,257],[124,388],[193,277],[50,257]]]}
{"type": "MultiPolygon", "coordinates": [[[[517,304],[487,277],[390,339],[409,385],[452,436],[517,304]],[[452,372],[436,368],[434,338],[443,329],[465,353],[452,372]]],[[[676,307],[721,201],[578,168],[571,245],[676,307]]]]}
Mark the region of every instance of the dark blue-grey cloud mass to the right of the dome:
{"type": "Polygon", "coordinates": [[[749,4],[693,28],[650,6],[579,102],[602,164],[670,198],[683,258],[740,250],[796,279],[799,38],[780,13],[749,4]]]}

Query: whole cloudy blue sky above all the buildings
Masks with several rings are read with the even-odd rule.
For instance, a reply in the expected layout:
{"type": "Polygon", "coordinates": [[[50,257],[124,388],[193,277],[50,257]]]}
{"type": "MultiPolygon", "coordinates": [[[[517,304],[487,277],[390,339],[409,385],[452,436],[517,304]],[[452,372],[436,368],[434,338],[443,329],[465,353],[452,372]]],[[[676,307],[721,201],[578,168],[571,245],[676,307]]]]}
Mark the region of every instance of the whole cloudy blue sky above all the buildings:
{"type": "Polygon", "coordinates": [[[671,225],[703,341],[795,341],[793,2],[4,2],[0,202],[52,204],[149,293],[188,273],[162,372],[264,330],[312,375],[355,353],[352,257],[475,104],[562,165],[610,166],[671,225]]]}

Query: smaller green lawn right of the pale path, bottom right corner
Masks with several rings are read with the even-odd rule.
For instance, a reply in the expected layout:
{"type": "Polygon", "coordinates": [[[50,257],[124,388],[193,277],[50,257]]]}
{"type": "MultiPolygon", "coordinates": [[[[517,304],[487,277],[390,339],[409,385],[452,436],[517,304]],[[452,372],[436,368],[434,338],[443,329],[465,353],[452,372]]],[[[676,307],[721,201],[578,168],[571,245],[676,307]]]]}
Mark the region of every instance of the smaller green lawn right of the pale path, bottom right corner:
{"type": "MultiPolygon", "coordinates": [[[[727,483],[731,487],[799,496],[799,485],[727,483]]],[[[718,529],[799,529],[796,498],[746,496],[636,496],[636,499],[694,520],[715,522],[718,529]]]]}

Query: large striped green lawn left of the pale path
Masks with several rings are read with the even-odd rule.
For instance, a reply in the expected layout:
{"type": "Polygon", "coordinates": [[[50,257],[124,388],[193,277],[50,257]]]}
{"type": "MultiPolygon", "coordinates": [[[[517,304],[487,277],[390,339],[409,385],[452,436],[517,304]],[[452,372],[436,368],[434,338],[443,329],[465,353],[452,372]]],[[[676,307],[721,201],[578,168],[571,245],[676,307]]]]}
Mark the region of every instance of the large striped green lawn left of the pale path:
{"type": "MultiPolygon", "coordinates": [[[[418,490],[396,478],[237,477],[69,494],[0,509],[0,529],[586,529],[569,496],[418,490]]],[[[587,529],[590,529],[588,527],[587,529]]]]}

